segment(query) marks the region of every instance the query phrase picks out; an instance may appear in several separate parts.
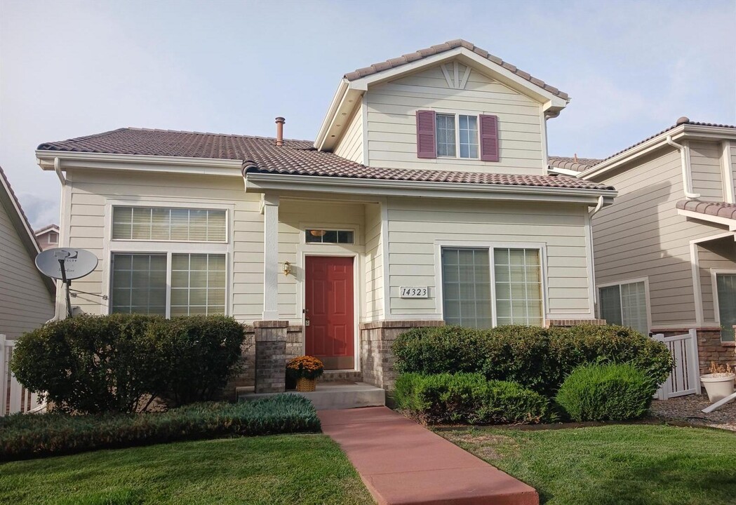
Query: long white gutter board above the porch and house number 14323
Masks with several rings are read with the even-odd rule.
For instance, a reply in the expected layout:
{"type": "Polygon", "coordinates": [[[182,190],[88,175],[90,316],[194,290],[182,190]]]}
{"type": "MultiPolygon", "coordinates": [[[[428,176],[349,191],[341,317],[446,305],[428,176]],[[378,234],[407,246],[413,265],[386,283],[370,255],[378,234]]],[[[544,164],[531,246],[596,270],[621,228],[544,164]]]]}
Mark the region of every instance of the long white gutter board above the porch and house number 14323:
{"type": "Polygon", "coordinates": [[[315,175],[245,174],[246,191],[313,191],[340,194],[371,194],[392,197],[455,199],[502,199],[570,202],[597,205],[604,197],[611,205],[616,191],[601,189],[540,188],[490,184],[431,183],[417,181],[324,177],[315,175]]]}

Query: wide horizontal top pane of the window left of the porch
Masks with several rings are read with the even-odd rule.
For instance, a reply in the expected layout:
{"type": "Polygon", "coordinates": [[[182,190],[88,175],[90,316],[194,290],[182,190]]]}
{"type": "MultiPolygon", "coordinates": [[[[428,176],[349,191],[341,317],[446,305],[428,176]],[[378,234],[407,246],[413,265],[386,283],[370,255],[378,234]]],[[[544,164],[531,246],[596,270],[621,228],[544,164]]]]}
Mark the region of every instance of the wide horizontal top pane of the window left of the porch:
{"type": "Polygon", "coordinates": [[[113,240],[224,242],[225,211],[114,207],[113,240]]]}

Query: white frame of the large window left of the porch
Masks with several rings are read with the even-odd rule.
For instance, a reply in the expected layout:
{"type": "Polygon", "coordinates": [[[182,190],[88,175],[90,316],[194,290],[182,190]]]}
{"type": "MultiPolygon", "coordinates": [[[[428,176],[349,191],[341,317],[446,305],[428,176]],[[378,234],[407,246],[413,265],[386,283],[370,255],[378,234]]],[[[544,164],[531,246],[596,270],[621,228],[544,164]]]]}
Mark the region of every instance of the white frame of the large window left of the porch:
{"type": "Polygon", "coordinates": [[[219,254],[225,257],[225,315],[233,314],[233,230],[235,205],[212,202],[155,202],[151,200],[108,200],[105,202],[105,242],[102,249],[102,293],[107,294],[102,314],[111,314],[113,299],[113,254],[166,254],[166,317],[171,317],[171,255],[219,254]],[[178,204],[178,205],[177,205],[178,204]],[[224,242],[113,240],[113,207],[196,208],[225,211],[224,242]]]}

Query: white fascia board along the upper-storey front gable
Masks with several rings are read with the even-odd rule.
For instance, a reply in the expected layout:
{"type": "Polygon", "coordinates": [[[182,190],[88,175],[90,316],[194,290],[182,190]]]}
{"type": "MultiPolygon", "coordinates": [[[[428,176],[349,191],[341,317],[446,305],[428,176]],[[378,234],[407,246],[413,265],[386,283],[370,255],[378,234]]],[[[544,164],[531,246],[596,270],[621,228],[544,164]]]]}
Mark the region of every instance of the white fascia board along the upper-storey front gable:
{"type": "Polygon", "coordinates": [[[436,66],[458,56],[463,57],[468,63],[474,63],[476,68],[478,66],[486,68],[489,73],[492,74],[493,78],[539,102],[543,105],[544,110],[553,107],[563,108],[567,106],[567,100],[545,90],[545,88],[540,88],[533,82],[510,71],[508,68],[504,68],[497,63],[493,63],[491,60],[482,57],[480,54],[475,54],[475,52],[462,46],[450,49],[450,51],[433,54],[432,56],[421,58],[420,60],[415,60],[411,63],[405,63],[404,65],[397,66],[396,68],[389,68],[389,70],[370,74],[366,77],[361,77],[361,79],[350,81],[350,88],[367,91],[368,87],[371,85],[394,80],[402,74],[408,74],[422,68],[436,66]]]}

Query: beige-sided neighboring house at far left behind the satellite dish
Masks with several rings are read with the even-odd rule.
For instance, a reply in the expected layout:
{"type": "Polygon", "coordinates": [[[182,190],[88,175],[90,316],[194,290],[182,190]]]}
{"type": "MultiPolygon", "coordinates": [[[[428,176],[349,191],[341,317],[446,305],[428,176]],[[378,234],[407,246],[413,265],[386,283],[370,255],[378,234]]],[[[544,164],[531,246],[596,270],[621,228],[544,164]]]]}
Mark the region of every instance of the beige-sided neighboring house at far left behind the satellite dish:
{"type": "Polygon", "coordinates": [[[0,334],[10,339],[54,317],[56,288],[36,269],[38,253],[33,230],[0,168],[0,334]]]}

